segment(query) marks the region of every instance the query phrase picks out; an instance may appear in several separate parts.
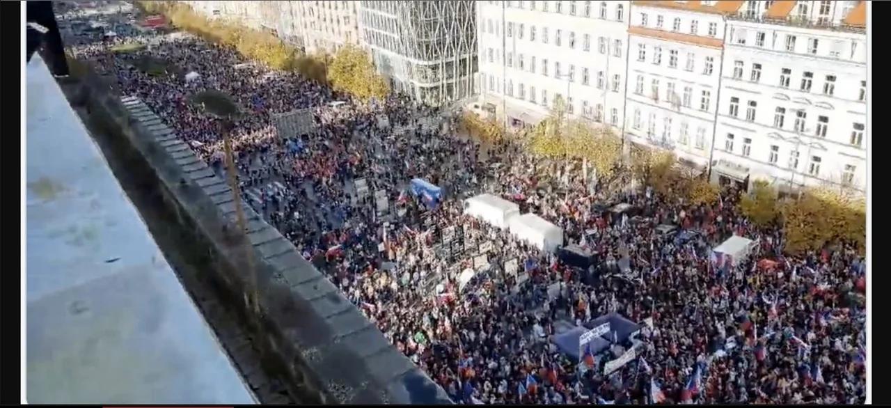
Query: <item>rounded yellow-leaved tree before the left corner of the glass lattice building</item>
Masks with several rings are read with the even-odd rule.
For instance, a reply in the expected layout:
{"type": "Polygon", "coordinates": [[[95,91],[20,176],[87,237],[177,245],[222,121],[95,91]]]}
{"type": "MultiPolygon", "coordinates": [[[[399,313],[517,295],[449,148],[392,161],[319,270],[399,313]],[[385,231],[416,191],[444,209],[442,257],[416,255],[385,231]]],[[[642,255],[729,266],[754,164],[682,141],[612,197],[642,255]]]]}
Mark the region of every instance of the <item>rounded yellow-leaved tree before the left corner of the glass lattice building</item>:
{"type": "Polygon", "coordinates": [[[368,54],[356,45],[340,48],[328,69],[334,89],[352,94],[361,101],[384,99],[389,94],[387,81],[374,69],[368,54]]]}

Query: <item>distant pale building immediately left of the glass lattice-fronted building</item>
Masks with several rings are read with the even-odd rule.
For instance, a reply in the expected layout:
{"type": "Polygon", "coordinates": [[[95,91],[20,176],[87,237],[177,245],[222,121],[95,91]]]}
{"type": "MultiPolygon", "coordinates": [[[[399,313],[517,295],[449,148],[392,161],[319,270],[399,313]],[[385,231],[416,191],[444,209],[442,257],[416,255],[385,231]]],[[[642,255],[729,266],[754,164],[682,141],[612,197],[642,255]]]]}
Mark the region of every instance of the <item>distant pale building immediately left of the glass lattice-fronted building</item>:
{"type": "Polygon", "coordinates": [[[336,53],[343,45],[359,45],[358,4],[355,1],[301,1],[298,24],[307,53],[336,53]]]}

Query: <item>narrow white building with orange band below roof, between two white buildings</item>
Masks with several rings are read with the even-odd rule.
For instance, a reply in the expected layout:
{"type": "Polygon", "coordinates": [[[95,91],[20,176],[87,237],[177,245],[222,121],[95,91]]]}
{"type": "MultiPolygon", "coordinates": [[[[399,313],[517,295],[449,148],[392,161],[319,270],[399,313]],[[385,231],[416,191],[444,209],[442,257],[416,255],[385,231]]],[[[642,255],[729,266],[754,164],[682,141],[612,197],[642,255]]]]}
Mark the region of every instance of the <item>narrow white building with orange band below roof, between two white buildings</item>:
{"type": "Polygon", "coordinates": [[[723,69],[724,18],[740,1],[634,1],[626,141],[706,169],[723,69]]]}

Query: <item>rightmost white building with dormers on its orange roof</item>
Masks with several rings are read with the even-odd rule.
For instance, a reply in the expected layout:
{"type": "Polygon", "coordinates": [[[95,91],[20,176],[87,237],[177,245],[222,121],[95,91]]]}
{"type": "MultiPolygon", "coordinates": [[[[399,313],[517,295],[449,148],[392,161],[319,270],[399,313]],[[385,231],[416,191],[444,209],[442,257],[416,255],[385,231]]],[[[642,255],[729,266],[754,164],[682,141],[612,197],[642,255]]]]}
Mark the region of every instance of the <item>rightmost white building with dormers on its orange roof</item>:
{"type": "Polygon", "coordinates": [[[713,180],[866,190],[866,3],[745,2],[728,18],[713,180]]]}

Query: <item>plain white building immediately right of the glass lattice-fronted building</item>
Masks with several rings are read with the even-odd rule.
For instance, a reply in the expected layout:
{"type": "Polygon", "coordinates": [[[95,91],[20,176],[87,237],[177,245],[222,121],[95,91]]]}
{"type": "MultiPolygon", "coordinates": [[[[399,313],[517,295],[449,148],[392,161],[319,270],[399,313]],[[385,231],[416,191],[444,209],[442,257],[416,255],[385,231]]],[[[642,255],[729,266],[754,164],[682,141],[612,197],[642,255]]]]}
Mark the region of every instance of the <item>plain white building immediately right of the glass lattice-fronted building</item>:
{"type": "Polygon", "coordinates": [[[570,116],[620,130],[627,1],[479,1],[479,101],[511,126],[534,125],[560,96],[570,116]]]}

